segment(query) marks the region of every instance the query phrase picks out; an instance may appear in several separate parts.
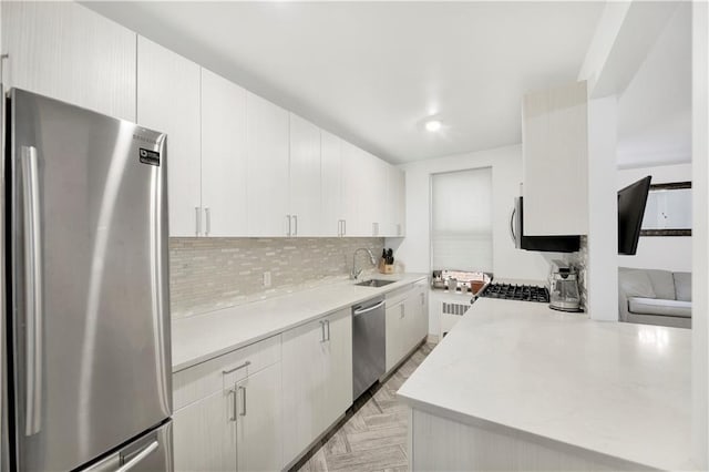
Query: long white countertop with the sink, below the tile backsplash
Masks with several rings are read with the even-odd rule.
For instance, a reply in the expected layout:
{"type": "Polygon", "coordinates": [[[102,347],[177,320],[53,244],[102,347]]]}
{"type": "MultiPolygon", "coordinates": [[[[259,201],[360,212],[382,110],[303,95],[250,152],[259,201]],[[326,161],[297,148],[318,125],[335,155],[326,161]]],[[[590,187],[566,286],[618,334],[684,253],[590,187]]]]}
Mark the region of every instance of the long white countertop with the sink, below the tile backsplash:
{"type": "Polygon", "coordinates": [[[175,319],[172,322],[173,372],[427,277],[427,274],[377,274],[371,278],[395,283],[374,288],[357,287],[354,281],[347,280],[175,319]]]}

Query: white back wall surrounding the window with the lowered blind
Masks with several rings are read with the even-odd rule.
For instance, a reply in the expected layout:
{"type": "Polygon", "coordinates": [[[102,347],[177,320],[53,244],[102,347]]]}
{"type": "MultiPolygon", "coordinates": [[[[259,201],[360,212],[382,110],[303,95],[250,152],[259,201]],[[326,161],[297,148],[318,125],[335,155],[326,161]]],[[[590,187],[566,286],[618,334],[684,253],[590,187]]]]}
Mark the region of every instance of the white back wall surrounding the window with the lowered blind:
{"type": "MultiPolygon", "coordinates": [[[[522,146],[513,145],[490,151],[456,154],[402,165],[407,173],[407,237],[387,239],[397,259],[407,271],[431,270],[430,199],[431,174],[492,167],[493,208],[493,273],[496,278],[544,280],[549,260],[561,258],[556,253],[533,253],[515,249],[510,237],[510,216],[514,198],[520,196],[522,182],[522,146]]],[[[459,205],[475,205],[460,202],[459,205]]],[[[439,334],[439,319],[430,310],[429,332],[439,334]]]]}

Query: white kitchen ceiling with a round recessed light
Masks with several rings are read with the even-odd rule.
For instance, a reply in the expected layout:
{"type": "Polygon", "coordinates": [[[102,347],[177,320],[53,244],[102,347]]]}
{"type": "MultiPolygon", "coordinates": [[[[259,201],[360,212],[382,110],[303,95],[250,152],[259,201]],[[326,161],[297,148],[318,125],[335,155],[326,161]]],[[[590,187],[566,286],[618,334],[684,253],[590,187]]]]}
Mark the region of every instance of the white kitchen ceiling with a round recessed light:
{"type": "Polygon", "coordinates": [[[392,163],[521,142],[576,80],[602,2],[88,2],[392,163]],[[423,130],[436,114],[439,134],[423,130]]]}

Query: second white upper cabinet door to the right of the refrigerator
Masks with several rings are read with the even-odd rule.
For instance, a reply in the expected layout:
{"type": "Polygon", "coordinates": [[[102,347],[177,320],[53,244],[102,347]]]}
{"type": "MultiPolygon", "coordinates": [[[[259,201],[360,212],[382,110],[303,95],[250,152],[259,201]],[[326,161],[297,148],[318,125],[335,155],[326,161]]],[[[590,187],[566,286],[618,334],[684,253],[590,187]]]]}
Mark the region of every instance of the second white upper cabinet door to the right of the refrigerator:
{"type": "Polygon", "coordinates": [[[202,69],[205,236],[246,236],[246,91],[202,69]]]}

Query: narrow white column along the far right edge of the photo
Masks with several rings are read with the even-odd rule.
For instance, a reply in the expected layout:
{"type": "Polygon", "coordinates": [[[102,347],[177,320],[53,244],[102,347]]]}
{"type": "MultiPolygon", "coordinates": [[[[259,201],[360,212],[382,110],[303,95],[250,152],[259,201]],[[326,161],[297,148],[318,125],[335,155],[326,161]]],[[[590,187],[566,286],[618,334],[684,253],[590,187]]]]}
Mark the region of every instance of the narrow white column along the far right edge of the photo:
{"type": "Polygon", "coordinates": [[[709,8],[692,3],[692,455],[709,469],[709,8]]]}

